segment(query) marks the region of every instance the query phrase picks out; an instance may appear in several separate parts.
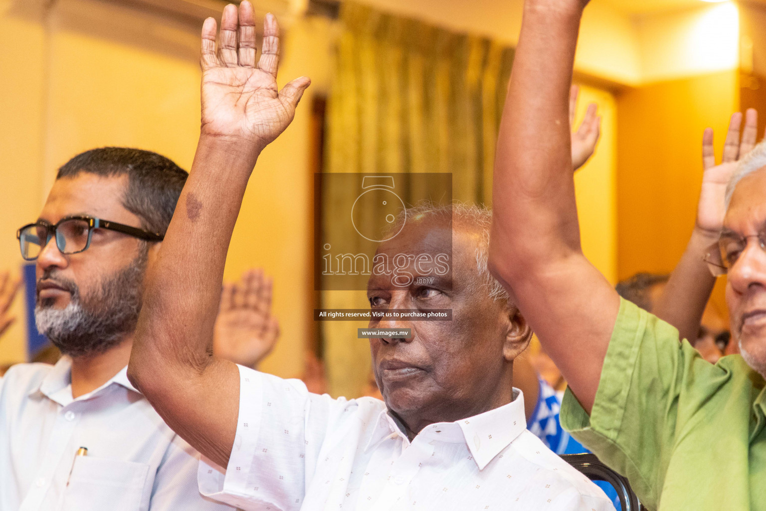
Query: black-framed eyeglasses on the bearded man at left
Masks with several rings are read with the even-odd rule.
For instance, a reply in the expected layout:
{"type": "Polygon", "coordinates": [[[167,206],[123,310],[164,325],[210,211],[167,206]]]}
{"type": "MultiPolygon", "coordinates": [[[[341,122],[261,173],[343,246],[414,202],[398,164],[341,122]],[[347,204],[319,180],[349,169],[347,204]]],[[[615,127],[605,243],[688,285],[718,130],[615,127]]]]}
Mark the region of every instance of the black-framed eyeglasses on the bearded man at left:
{"type": "Polygon", "coordinates": [[[77,254],[87,250],[93,237],[93,229],[109,229],[146,241],[162,241],[163,238],[162,234],[87,215],[68,216],[55,224],[47,221],[27,224],[16,231],[16,237],[21,247],[21,257],[25,260],[35,260],[43,247],[51,241],[51,237],[56,238],[56,247],[61,254],[77,254]]]}

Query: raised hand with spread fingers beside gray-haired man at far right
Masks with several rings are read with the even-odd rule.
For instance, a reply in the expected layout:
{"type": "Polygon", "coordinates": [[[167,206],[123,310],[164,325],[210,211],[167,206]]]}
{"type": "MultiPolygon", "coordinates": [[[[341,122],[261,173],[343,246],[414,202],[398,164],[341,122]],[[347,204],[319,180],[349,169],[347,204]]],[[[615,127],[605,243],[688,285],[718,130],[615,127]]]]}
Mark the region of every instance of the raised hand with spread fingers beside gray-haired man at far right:
{"type": "Polygon", "coordinates": [[[742,114],[739,112],[732,114],[720,165],[715,165],[712,128],[705,129],[705,134],[702,136],[702,165],[705,173],[702,175],[696,227],[705,234],[717,236],[721,231],[726,214],[726,186],[737,169],[737,162],[755,147],[758,138],[756,110],[750,109],[745,113],[745,128],[742,129],[740,141],[741,123],[742,114]]]}

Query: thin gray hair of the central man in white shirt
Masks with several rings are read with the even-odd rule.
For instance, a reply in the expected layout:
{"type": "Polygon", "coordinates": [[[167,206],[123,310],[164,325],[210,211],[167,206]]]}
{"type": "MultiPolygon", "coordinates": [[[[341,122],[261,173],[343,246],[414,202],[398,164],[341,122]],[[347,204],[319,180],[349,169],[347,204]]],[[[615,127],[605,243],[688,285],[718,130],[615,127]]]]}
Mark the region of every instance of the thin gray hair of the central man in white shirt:
{"type": "Polygon", "coordinates": [[[479,271],[481,284],[489,298],[493,300],[509,300],[508,292],[489,273],[489,230],[492,228],[492,210],[483,205],[469,205],[460,202],[452,205],[434,205],[424,202],[407,208],[399,213],[391,225],[391,230],[398,230],[405,221],[420,221],[424,218],[444,217],[452,219],[453,228],[460,225],[480,234],[480,243],[476,247],[476,270],[479,271]]]}

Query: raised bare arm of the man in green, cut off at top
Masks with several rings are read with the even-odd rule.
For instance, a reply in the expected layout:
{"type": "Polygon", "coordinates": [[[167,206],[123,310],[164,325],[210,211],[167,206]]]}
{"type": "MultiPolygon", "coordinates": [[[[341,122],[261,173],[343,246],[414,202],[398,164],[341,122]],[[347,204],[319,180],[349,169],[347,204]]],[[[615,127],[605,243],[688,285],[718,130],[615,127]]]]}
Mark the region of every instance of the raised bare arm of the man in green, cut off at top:
{"type": "Polygon", "coordinates": [[[489,263],[590,412],[619,297],[581,251],[568,98],[587,0],[527,0],[500,126],[489,263]]]}

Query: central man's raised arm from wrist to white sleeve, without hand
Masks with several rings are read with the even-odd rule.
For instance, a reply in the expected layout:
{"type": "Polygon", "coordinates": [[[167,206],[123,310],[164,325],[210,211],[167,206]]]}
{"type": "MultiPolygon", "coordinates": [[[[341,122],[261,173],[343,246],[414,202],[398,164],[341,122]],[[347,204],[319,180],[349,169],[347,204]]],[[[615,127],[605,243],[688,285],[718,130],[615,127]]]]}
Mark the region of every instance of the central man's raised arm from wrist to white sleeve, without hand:
{"type": "Polygon", "coordinates": [[[212,355],[231,232],[257,151],[202,136],[147,276],[129,378],[178,434],[226,466],[239,408],[237,366],[212,355]],[[221,179],[221,176],[226,176],[221,179]]]}

